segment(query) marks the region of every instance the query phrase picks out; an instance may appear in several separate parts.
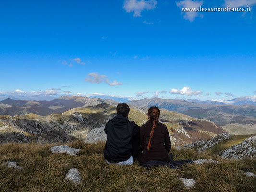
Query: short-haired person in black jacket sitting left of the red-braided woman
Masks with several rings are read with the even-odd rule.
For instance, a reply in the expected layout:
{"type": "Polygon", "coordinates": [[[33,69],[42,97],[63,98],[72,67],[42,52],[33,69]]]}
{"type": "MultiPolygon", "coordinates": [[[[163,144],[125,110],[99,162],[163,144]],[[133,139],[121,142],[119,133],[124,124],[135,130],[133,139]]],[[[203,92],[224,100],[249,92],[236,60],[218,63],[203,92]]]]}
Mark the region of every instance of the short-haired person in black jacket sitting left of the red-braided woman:
{"type": "Polygon", "coordinates": [[[129,111],[126,103],[119,103],[117,116],[106,123],[104,158],[108,164],[132,165],[138,156],[140,127],[128,120],[129,111]]]}

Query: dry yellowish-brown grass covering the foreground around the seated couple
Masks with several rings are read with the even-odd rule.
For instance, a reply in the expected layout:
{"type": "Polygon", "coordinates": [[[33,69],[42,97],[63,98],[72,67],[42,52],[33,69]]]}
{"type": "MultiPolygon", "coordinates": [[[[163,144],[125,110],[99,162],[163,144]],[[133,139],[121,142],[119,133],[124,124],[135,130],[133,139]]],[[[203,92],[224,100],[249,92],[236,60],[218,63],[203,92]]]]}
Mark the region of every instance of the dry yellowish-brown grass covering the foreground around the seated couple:
{"type": "MultiPolygon", "coordinates": [[[[61,144],[61,143],[59,143],[61,144]]],[[[256,177],[248,178],[243,171],[256,173],[256,159],[223,160],[211,152],[202,154],[191,149],[172,149],[174,160],[212,158],[221,164],[187,165],[181,169],[167,167],[146,169],[138,165],[109,166],[102,155],[104,144],[68,144],[82,148],[78,156],[51,154],[54,144],[2,144],[0,163],[16,161],[22,171],[0,167],[0,191],[22,192],[186,192],[181,177],[197,181],[192,192],[252,192],[256,177]],[[77,168],[82,183],[74,186],[65,181],[65,174],[77,168]],[[106,169],[107,168],[107,169],[106,169]],[[149,174],[145,174],[149,171],[149,174]]]]}

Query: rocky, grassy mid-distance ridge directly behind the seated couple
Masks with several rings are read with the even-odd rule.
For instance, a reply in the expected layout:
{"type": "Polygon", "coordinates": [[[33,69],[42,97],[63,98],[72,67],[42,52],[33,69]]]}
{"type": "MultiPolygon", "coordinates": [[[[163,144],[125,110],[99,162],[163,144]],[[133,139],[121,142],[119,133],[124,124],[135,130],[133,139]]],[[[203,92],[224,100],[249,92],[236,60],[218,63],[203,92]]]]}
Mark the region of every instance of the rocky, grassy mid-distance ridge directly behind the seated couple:
{"type": "MultiPolygon", "coordinates": [[[[174,146],[211,139],[226,132],[221,126],[209,120],[200,120],[165,109],[160,110],[160,121],[167,126],[174,146]]],[[[62,114],[48,116],[0,115],[0,143],[8,141],[68,142],[77,138],[85,139],[88,132],[94,128],[104,127],[106,122],[115,115],[116,107],[107,103],[73,108],[62,114]]],[[[142,125],[148,119],[144,111],[131,108],[129,120],[142,125]]]]}

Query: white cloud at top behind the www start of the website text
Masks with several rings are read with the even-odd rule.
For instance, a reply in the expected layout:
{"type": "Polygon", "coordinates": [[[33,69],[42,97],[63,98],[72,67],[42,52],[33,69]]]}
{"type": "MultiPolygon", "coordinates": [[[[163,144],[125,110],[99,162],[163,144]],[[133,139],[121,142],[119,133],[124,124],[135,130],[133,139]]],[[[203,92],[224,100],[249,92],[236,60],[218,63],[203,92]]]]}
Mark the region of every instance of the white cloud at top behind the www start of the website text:
{"type": "MultiPolygon", "coordinates": [[[[183,1],[176,1],[176,5],[179,8],[198,8],[202,6],[204,1],[197,1],[197,0],[183,0],[183,1]]],[[[198,12],[182,12],[184,19],[189,20],[190,22],[195,20],[195,17],[203,16],[202,14],[199,14],[198,12]]]]}

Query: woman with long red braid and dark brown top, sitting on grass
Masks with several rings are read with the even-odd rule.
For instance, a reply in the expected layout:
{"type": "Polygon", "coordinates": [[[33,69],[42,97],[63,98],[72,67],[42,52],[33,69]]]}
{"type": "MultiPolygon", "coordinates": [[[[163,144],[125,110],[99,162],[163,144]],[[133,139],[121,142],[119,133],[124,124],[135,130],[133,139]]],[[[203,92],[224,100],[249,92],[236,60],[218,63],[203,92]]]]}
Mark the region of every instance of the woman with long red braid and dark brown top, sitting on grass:
{"type": "Polygon", "coordinates": [[[170,162],[168,152],[171,149],[169,132],[166,125],[159,122],[160,110],[156,106],[148,109],[146,124],[140,127],[140,143],[142,153],[139,154],[140,164],[150,160],[170,162]]]}

